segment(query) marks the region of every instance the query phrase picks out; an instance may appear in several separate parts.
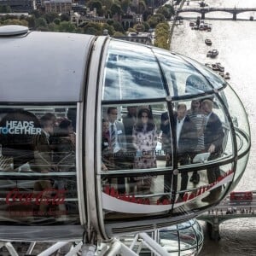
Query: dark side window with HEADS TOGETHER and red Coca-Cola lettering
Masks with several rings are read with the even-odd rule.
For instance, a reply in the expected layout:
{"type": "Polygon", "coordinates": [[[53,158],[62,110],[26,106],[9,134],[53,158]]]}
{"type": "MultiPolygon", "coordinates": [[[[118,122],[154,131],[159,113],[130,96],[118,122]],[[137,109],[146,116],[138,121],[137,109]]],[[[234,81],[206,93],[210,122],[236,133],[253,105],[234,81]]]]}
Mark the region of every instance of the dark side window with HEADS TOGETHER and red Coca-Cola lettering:
{"type": "Polygon", "coordinates": [[[76,105],[0,111],[0,224],[79,224],[76,105]]]}

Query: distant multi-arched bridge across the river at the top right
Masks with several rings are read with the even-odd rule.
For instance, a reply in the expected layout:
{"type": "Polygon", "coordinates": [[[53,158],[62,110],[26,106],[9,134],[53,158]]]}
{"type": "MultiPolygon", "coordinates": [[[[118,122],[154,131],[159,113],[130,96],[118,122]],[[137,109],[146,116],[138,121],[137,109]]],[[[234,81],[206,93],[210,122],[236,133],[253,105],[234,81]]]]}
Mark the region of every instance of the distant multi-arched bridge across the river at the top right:
{"type": "Polygon", "coordinates": [[[177,9],[177,15],[181,13],[199,13],[201,14],[201,19],[206,18],[207,13],[212,12],[226,12],[233,15],[232,20],[237,19],[237,15],[245,12],[254,12],[256,11],[256,8],[183,8],[183,9],[177,9]]]}

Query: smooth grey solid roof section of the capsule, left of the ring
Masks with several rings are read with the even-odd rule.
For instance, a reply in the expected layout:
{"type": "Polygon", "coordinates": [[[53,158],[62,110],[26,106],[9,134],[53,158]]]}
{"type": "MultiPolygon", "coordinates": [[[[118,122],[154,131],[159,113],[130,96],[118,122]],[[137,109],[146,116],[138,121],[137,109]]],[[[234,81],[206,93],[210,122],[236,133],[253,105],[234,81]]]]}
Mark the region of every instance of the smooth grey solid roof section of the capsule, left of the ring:
{"type": "Polygon", "coordinates": [[[95,37],[11,31],[13,26],[9,34],[8,30],[0,32],[0,102],[81,101],[84,70],[95,37]]]}

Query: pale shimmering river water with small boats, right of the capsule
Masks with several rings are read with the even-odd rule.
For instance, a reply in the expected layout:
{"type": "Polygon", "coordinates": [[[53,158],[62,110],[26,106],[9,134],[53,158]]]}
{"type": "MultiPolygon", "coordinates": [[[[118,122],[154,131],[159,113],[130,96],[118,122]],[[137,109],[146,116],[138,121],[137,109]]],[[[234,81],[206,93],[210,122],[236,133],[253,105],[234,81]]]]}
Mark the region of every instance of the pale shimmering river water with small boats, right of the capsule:
{"type": "MultiPolygon", "coordinates": [[[[209,7],[256,8],[256,0],[206,0],[206,3],[209,7]]],[[[190,0],[188,7],[198,8],[199,1],[190,0]]],[[[195,20],[198,14],[183,16],[195,20]]],[[[219,12],[206,17],[230,18],[232,15],[219,12]]],[[[174,29],[171,50],[206,63],[212,61],[207,58],[207,50],[218,49],[218,56],[212,62],[221,62],[225,72],[230,73],[229,83],[246,108],[252,136],[247,169],[235,189],[241,191],[256,190],[256,12],[240,14],[237,18],[242,20],[205,20],[212,24],[212,32],[191,30],[189,20],[184,20],[174,29]],[[249,20],[250,16],[254,21],[249,20]],[[212,40],[212,47],[205,44],[206,38],[212,40]]],[[[220,241],[210,241],[206,235],[200,255],[256,256],[256,218],[226,221],[220,224],[220,236],[220,241]]]]}

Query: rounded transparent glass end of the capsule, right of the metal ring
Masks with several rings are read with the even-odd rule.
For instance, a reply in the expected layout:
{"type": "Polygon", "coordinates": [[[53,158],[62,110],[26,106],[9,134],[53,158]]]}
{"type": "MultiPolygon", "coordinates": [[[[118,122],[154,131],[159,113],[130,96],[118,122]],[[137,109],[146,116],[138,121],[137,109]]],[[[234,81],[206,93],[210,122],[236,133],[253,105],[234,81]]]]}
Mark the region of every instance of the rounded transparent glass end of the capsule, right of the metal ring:
{"type": "MultiPolygon", "coordinates": [[[[223,79],[183,56],[137,47],[111,42],[104,70],[97,174],[109,226],[113,219],[149,223],[152,216],[189,218],[205,210],[228,193],[235,173],[235,182],[240,179],[250,145],[244,109],[223,79]],[[147,68],[154,69],[154,85],[144,90],[133,72],[147,68]],[[237,154],[242,161],[236,172],[237,154]]],[[[194,244],[188,246],[192,252],[194,244]]]]}

